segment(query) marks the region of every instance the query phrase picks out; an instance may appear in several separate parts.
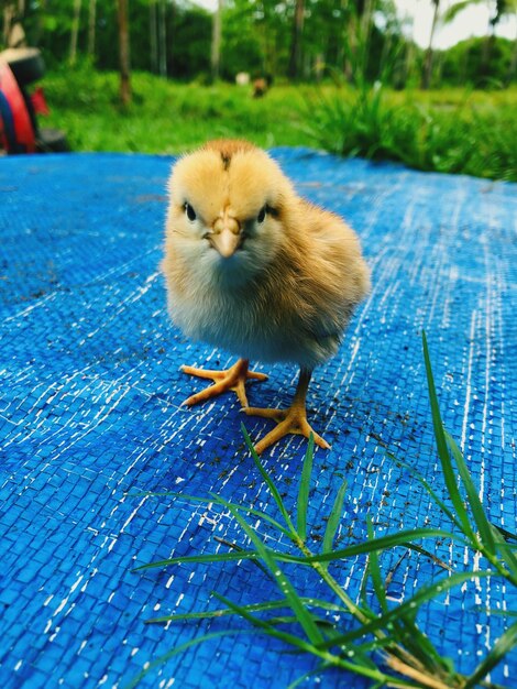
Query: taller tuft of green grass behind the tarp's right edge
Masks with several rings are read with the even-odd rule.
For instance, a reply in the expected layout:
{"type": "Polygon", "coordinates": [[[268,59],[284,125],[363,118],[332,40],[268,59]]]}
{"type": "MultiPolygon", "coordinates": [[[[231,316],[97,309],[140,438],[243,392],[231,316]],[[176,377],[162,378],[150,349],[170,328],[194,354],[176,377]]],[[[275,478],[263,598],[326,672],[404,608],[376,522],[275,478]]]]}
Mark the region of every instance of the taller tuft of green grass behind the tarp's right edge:
{"type": "Polygon", "coordinates": [[[515,94],[505,97],[417,91],[394,94],[380,84],[320,89],[307,98],[307,133],[346,156],[400,161],[428,172],[517,182],[515,94]]]}

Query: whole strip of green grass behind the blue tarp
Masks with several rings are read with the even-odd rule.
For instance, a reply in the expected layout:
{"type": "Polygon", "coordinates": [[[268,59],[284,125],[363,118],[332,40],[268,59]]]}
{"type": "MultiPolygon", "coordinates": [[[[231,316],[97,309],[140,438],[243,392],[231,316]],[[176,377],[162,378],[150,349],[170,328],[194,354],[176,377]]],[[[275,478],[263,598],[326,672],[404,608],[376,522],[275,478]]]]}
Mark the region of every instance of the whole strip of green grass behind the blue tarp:
{"type": "Polygon", "coordinates": [[[118,89],[117,74],[86,66],[48,74],[48,124],[63,129],[75,151],[176,154],[208,139],[238,136],[264,147],[315,146],[517,182],[517,88],[397,92],[275,85],[253,99],[246,87],[135,73],[127,110],[118,89]]]}

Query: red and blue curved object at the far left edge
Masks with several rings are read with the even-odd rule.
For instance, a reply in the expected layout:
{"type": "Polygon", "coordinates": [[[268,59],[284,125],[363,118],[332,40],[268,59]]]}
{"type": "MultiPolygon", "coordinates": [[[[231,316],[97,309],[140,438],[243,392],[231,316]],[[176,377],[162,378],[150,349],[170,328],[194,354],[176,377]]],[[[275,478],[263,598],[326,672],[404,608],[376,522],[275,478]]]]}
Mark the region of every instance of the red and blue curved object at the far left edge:
{"type": "Polygon", "coordinates": [[[0,144],[8,153],[34,153],[34,128],[18,81],[0,63],[0,144]]]}

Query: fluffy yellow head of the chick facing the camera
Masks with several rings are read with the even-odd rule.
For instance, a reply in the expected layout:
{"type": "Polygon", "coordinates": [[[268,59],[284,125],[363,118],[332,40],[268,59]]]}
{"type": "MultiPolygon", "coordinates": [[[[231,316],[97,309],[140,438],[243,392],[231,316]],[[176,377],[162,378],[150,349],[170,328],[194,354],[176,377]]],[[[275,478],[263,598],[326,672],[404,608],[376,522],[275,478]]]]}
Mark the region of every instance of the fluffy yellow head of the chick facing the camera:
{"type": "Polygon", "coordinates": [[[182,157],[169,194],[167,242],[200,280],[249,282],[286,241],[283,215],[293,188],[251,144],[212,142],[182,157]]]}

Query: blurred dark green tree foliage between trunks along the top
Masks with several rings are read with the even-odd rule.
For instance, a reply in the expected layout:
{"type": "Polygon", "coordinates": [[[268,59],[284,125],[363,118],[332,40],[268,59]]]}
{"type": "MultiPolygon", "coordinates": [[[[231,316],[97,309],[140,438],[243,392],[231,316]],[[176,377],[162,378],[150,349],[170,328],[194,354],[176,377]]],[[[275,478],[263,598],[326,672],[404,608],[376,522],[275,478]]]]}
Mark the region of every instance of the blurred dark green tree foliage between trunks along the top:
{"type": "MultiPolygon", "coordinates": [[[[73,28],[72,0],[33,0],[26,4],[23,25],[29,43],[42,48],[51,67],[69,57],[73,28]]],[[[88,53],[91,0],[80,6],[78,52],[88,53]]],[[[92,63],[100,69],[118,68],[117,2],[96,0],[92,63]]],[[[227,0],[222,13],[221,76],[233,80],[240,72],[253,76],[288,73],[295,1],[227,0]]],[[[138,70],[175,79],[208,78],[212,15],[188,0],[131,0],[129,3],[131,63],[138,70]],[[153,47],[153,41],[155,43],[153,47]],[[161,66],[160,64],[161,63],[161,66]]],[[[333,72],[349,78],[360,68],[369,81],[382,79],[395,88],[417,85],[424,51],[406,39],[392,0],[305,0],[302,32],[304,80],[320,80],[333,72]],[[370,10],[367,10],[370,8],[370,10]],[[370,21],[365,13],[370,11],[370,21]],[[353,64],[353,68],[352,65],[353,64]]],[[[503,85],[515,79],[512,42],[473,39],[454,48],[435,52],[435,85],[503,85]],[[483,63],[483,51],[490,61],[483,63]]]]}

